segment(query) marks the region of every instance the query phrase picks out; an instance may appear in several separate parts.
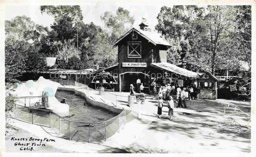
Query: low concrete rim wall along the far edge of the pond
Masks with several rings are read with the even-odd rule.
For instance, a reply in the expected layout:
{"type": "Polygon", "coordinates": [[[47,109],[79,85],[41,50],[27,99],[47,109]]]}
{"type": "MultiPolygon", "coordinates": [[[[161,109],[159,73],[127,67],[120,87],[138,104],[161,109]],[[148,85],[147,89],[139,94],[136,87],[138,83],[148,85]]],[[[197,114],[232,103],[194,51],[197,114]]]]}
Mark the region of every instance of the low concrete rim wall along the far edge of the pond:
{"type": "Polygon", "coordinates": [[[76,95],[81,96],[85,98],[86,102],[92,106],[97,106],[106,110],[109,110],[114,113],[121,113],[124,109],[123,108],[116,108],[114,106],[110,106],[109,104],[106,104],[104,102],[96,101],[90,98],[89,96],[86,96],[84,92],[78,91],[75,88],[67,88],[67,87],[58,87],[58,90],[64,90],[69,92],[74,92],[76,95]]]}

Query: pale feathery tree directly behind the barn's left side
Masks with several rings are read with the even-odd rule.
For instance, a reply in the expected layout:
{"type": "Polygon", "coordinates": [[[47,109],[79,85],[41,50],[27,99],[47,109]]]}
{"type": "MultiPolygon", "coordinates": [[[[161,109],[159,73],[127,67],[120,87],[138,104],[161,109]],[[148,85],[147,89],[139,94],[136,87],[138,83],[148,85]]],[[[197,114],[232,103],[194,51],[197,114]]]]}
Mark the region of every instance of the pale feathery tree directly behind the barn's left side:
{"type": "Polygon", "coordinates": [[[104,12],[101,20],[105,28],[95,36],[98,44],[95,45],[94,63],[107,67],[117,61],[117,48],[112,45],[132,28],[135,19],[127,9],[119,7],[115,14],[104,12]]]}

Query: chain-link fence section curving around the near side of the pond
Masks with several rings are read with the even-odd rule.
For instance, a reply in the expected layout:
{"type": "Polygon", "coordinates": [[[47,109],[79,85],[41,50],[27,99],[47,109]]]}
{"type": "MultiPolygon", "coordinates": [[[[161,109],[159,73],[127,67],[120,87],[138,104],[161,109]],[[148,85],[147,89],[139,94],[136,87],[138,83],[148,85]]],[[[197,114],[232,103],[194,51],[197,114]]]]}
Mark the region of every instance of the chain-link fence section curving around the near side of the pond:
{"type": "Polygon", "coordinates": [[[46,126],[49,134],[75,141],[101,141],[111,137],[127,122],[136,118],[131,111],[123,110],[116,117],[103,122],[77,122],[67,120],[51,110],[34,109],[15,105],[15,119],[46,126]]]}

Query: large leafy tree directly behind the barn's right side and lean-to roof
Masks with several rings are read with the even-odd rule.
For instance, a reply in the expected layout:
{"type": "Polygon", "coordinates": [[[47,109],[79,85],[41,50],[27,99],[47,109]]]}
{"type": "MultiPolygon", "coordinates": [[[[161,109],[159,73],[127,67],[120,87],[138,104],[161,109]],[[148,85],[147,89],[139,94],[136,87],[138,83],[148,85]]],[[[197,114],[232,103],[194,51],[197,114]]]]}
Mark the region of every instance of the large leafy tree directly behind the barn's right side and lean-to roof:
{"type": "Polygon", "coordinates": [[[155,29],[171,42],[172,47],[178,48],[177,52],[172,54],[176,57],[169,57],[169,63],[193,71],[205,69],[204,64],[200,64],[201,67],[199,67],[198,60],[195,60],[201,58],[202,52],[205,51],[202,46],[204,43],[202,13],[203,8],[196,5],[174,5],[173,8],[166,6],[161,8],[155,29]]]}

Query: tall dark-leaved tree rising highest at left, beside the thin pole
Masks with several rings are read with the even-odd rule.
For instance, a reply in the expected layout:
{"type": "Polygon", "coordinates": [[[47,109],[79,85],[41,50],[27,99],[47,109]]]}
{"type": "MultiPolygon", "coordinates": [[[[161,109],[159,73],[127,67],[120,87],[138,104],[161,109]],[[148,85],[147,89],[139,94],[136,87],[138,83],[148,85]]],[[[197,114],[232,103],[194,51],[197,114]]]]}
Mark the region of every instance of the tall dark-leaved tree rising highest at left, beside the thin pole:
{"type": "Polygon", "coordinates": [[[68,63],[69,55],[75,51],[76,24],[83,20],[79,5],[44,5],[40,6],[41,13],[46,12],[54,17],[49,36],[54,42],[59,54],[64,57],[64,63],[68,63]]]}

